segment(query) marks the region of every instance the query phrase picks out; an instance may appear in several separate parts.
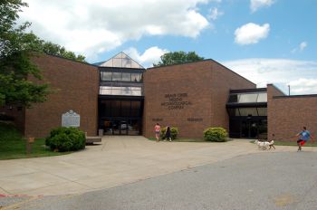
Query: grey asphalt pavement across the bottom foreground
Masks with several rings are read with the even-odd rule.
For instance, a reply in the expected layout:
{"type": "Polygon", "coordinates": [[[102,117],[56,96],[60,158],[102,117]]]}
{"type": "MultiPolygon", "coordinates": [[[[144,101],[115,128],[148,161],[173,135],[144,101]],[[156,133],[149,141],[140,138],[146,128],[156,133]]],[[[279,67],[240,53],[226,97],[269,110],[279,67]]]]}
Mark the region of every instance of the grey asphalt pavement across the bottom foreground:
{"type": "Polygon", "coordinates": [[[307,149],[247,154],[99,191],[24,198],[4,209],[315,210],[316,172],[317,154],[307,149]]]}

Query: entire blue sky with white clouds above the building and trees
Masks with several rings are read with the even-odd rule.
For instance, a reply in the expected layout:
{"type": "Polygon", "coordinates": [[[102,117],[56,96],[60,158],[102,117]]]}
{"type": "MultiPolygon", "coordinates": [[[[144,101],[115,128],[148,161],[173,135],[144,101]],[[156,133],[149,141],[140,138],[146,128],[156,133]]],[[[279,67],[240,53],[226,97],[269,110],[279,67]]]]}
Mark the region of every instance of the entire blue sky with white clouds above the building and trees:
{"type": "MultiPolygon", "coordinates": [[[[24,0],[19,22],[45,41],[103,62],[126,52],[144,67],[197,52],[291,95],[317,94],[316,0],[24,0]]],[[[226,81],[224,81],[226,82],[226,81]]]]}

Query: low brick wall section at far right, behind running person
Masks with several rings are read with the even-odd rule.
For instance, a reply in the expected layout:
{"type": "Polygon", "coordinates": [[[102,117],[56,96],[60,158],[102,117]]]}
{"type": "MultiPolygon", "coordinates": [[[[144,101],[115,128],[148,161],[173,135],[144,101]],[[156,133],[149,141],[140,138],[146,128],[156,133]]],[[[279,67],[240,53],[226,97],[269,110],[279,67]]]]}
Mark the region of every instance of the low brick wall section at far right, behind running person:
{"type": "Polygon", "coordinates": [[[273,85],[267,86],[268,92],[268,138],[285,141],[297,140],[294,138],[303,126],[317,135],[317,95],[281,96],[283,93],[273,85]],[[293,137],[293,138],[290,138],[293,137]]]}

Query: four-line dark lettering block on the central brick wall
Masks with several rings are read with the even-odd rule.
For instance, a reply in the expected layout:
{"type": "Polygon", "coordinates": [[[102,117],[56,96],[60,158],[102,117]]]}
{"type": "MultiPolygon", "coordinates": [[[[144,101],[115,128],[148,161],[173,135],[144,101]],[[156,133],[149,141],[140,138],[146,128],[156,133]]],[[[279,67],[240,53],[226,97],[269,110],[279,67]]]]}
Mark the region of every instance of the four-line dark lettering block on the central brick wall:
{"type": "Polygon", "coordinates": [[[185,107],[192,105],[192,103],[187,100],[187,93],[165,94],[165,99],[166,101],[160,105],[168,107],[168,110],[183,110],[185,107]]]}

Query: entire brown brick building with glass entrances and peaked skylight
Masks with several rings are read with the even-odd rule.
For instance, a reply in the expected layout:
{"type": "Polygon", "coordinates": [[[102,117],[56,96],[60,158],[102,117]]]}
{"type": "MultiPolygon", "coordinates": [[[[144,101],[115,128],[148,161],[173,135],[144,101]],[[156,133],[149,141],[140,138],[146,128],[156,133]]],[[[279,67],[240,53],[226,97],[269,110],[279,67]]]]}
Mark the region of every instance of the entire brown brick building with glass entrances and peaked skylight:
{"type": "Polygon", "coordinates": [[[179,137],[202,138],[223,127],[232,138],[286,138],[303,126],[317,129],[317,95],[286,96],[213,60],[145,69],[120,52],[94,65],[52,55],[34,58],[53,92],[32,109],[4,107],[26,137],[45,137],[62,126],[62,114],[80,115],[88,135],[143,135],[178,127],[179,137]],[[100,132],[99,132],[100,131],[100,132]]]}

